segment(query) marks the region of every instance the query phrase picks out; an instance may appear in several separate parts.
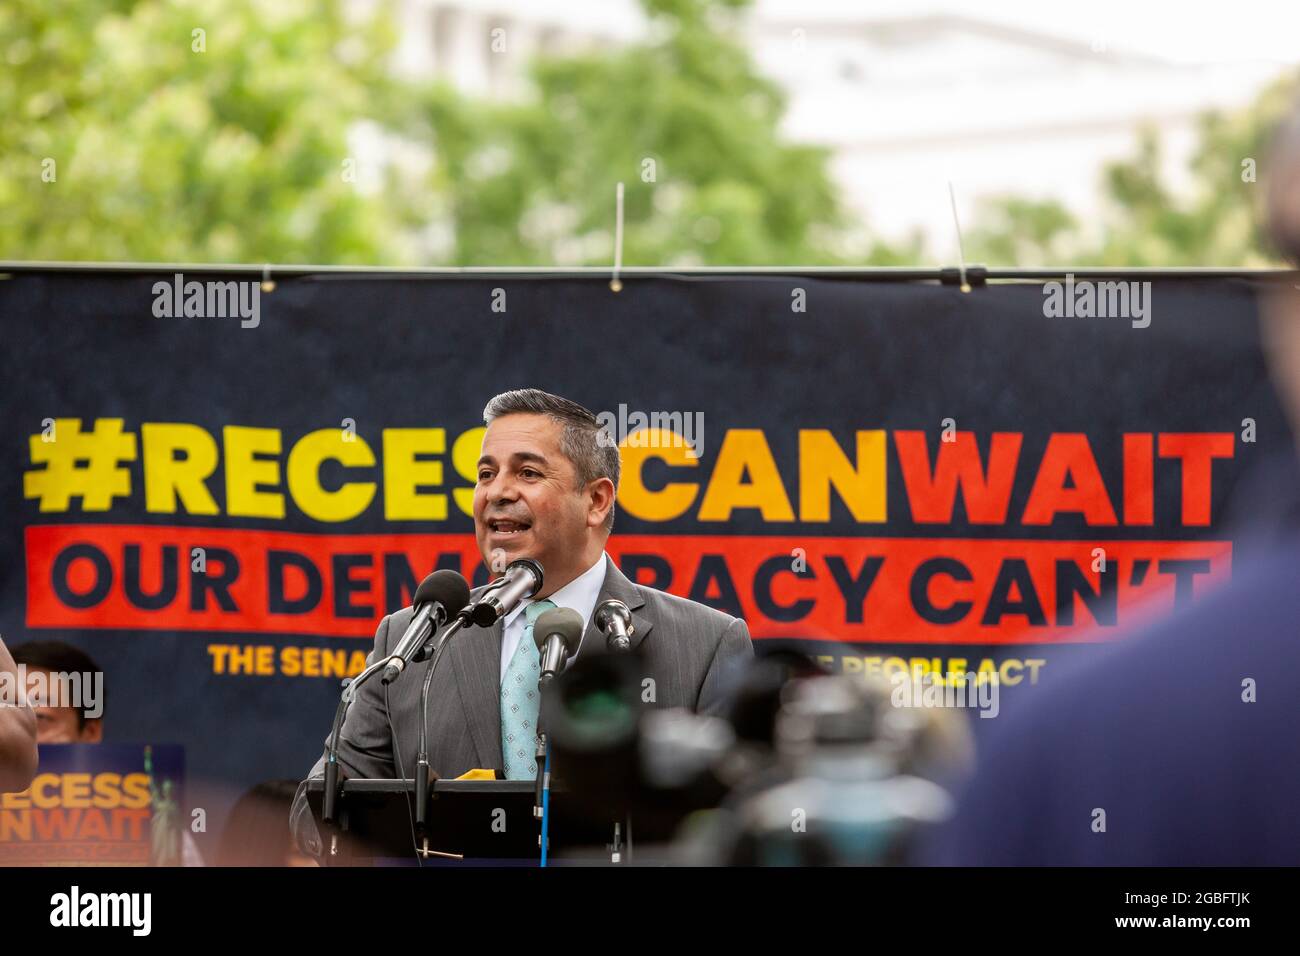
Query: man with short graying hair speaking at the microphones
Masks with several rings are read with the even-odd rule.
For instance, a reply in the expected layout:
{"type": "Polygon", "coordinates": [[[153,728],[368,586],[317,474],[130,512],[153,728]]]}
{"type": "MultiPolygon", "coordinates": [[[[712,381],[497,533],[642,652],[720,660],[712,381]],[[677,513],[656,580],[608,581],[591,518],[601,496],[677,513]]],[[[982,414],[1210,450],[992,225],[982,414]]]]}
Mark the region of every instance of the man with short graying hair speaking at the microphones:
{"type": "MultiPolygon", "coordinates": [[[[604,554],[619,449],[603,440],[597,418],[559,395],[516,389],[493,398],[484,421],[473,503],[478,550],[498,571],[532,558],[542,566],[543,581],[491,627],[467,628],[448,640],[429,689],[430,769],[439,778],[472,769],[493,769],[508,779],[536,777],[541,665],[532,631],[533,620],[552,607],[582,617],[575,659],[604,649],[593,611],[610,598],[621,601],[632,613],[632,641],[655,679],[655,704],[720,711],[728,676],[753,657],[749,630],[722,611],[633,584],[604,554]]],[[[404,607],[380,622],[368,663],[394,652],[412,614],[404,607]]],[[[391,728],[381,682],[361,687],[341,731],[344,775],[394,778],[402,775],[398,766],[407,777],[415,773],[422,680],[420,669],[389,687],[391,728]]],[[[324,758],[311,777],[322,769],[324,758]]],[[[294,800],[291,825],[299,847],[318,856],[306,784],[294,800]]]]}

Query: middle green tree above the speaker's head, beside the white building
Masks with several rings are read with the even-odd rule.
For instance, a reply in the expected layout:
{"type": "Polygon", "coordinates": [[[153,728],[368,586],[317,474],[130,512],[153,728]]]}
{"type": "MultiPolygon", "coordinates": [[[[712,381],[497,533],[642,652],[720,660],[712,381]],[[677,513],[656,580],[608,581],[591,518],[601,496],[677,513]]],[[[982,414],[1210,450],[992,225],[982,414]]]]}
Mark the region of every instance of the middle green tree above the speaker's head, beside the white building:
{"type": "Polygon", "coordinates": [[[826,151],[781,142],[784,101],[728,36],[744,3],[647,0],[645,43],[532,69],[515,103],[420,103],[456,264],[835,263],[850,254],[826,151]]]}

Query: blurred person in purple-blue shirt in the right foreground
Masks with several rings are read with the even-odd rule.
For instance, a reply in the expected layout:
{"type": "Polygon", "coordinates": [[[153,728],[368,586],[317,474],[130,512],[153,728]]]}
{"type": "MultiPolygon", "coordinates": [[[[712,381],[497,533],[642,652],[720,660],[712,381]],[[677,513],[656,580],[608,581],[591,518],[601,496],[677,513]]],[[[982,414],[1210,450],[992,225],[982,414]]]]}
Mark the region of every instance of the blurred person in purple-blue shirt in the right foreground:
{"type": "MultiPolygon", "coordinates": [[[[1300,264],[1300,109],[1268,176],[1269,232],[1300,264]]],[[[1297,282],[1270,284],[1261,323],[1300,433],[1297,282]]],[[[1300,531],[1283,524],[1230,584],[1030,692],[919,861],[1300,864],[1300,531]]]]}

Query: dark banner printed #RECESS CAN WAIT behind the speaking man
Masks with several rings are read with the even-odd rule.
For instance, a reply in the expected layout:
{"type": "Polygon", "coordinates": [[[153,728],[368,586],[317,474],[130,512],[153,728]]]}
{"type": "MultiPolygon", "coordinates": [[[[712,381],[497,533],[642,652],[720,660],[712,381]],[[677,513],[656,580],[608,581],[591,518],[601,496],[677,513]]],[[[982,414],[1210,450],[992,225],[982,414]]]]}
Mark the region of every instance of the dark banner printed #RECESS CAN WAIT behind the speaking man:
{"type": "Polygon", "coordinates": [[[208,849],[239,791],[311,766],[425,574],[486,580],[482,407],[532,385],[619,441],[634,580],[745,617],[760,653],[1014,696],[1249,546],[1244,489],[1291,449],[1254,295],[16,274],[0,633],[87,650],[108,740],[183,745],[208,849]]]}

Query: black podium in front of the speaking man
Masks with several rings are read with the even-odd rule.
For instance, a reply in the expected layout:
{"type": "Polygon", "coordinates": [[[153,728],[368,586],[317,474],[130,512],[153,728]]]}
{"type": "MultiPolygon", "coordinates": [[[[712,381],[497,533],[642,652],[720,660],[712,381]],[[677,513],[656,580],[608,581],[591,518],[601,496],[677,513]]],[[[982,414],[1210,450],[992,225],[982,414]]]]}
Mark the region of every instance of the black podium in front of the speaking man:
{"type": "MultiPolygon", "coordinates": [[[[333,830],[320,822],[324,792],[324,779],[307,782],[307,803],[324,840],[322,864],[365,866],[416,860],[412,778],[343,780],[338,826],[333,830]],[[335,853],[330,852],[332,844],[337,847],[335,853]]],[[[551,787],[549,855],[602,851],[612,844],[615,819],[566,808],[564,795],[563,790],[551,787]]],[[[424,830],[430,853],[421,857],[424,864],[536,866],[541,860],[542,822],[533,816],[534,803],[533,780],[434,780],[425,809],[424,830]]]]}

